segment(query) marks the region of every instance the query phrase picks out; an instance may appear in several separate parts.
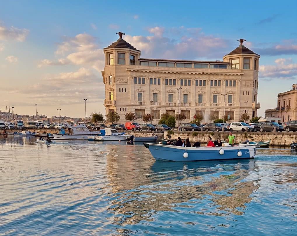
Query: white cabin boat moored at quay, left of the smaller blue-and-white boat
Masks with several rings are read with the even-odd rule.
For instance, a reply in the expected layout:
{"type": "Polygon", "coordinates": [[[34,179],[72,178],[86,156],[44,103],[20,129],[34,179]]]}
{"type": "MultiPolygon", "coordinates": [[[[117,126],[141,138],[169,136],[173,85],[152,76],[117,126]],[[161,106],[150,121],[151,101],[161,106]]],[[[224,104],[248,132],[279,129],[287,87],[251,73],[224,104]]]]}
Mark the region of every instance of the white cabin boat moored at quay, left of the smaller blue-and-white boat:
{"type": "Polygon", "coordinates": [[[89,131],[85,124],[70,126],[67,122],[64,124],[65,129],[61,129],[59,134],[53,134],[53,139],[60,140],[83,140],[88,139],[88,135],[101,134],[99,130],[89,131]]]}

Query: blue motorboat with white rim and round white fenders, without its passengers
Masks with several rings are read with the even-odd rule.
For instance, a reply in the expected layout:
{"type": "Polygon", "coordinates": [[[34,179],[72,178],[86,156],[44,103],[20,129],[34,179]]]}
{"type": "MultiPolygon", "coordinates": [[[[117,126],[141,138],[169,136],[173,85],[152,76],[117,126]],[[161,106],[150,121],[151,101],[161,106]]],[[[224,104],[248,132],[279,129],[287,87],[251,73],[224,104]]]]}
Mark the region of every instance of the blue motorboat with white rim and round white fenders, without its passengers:
{"type": "Polygon", "coordinates": [[[248,159],[256,155],[255,146],[179,147],[153,143],[143,145],[156,160],[165,161],[248,159]]]}

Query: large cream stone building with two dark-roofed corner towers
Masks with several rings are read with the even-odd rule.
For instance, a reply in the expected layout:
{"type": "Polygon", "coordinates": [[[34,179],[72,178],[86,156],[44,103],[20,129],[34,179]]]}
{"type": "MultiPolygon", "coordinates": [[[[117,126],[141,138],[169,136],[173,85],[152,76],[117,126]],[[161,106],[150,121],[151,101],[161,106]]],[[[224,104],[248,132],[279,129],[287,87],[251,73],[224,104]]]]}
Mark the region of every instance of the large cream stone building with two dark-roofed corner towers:
{"type": "Polygon", "coordinates": [[[140,58],[140,51],[127,43],[123,33],[104,48],[106,113],[117,112],[124,122],[127,112],[142,122],[144,114],[157,123],[162,113],[184,113],[187,121],[195,114],[210,122],[209,114],[238,121],[242,113],[257,115],[260,55],[240,45],[223,61],[165,60],[140,58]]]}

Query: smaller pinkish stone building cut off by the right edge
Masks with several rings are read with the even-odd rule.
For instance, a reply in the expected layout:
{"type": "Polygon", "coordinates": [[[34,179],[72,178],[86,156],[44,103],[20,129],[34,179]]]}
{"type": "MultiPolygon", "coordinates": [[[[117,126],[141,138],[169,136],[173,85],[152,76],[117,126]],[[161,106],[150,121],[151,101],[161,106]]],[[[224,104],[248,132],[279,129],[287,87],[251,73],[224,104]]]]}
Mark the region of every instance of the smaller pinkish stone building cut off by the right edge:
{"type": "Polygon", "coordinates": [[[279,118],[279,122],[297,120],[297,84],[287,92],[277,94],[277,107],[265,110],[266,117],[279,118]]]}

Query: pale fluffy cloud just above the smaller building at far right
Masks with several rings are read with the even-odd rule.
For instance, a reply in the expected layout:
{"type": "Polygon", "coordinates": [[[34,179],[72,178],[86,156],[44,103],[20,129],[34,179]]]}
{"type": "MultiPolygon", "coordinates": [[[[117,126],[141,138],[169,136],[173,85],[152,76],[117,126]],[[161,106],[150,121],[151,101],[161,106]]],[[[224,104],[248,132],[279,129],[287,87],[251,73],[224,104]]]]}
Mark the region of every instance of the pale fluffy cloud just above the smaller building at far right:
{"type": "Polygon", "coordinates": [[[259,67],[260,78],[266,79],[296,79],[297,63],[291,58],[278,58],[275,65],[261,65],[259,67]]]}

